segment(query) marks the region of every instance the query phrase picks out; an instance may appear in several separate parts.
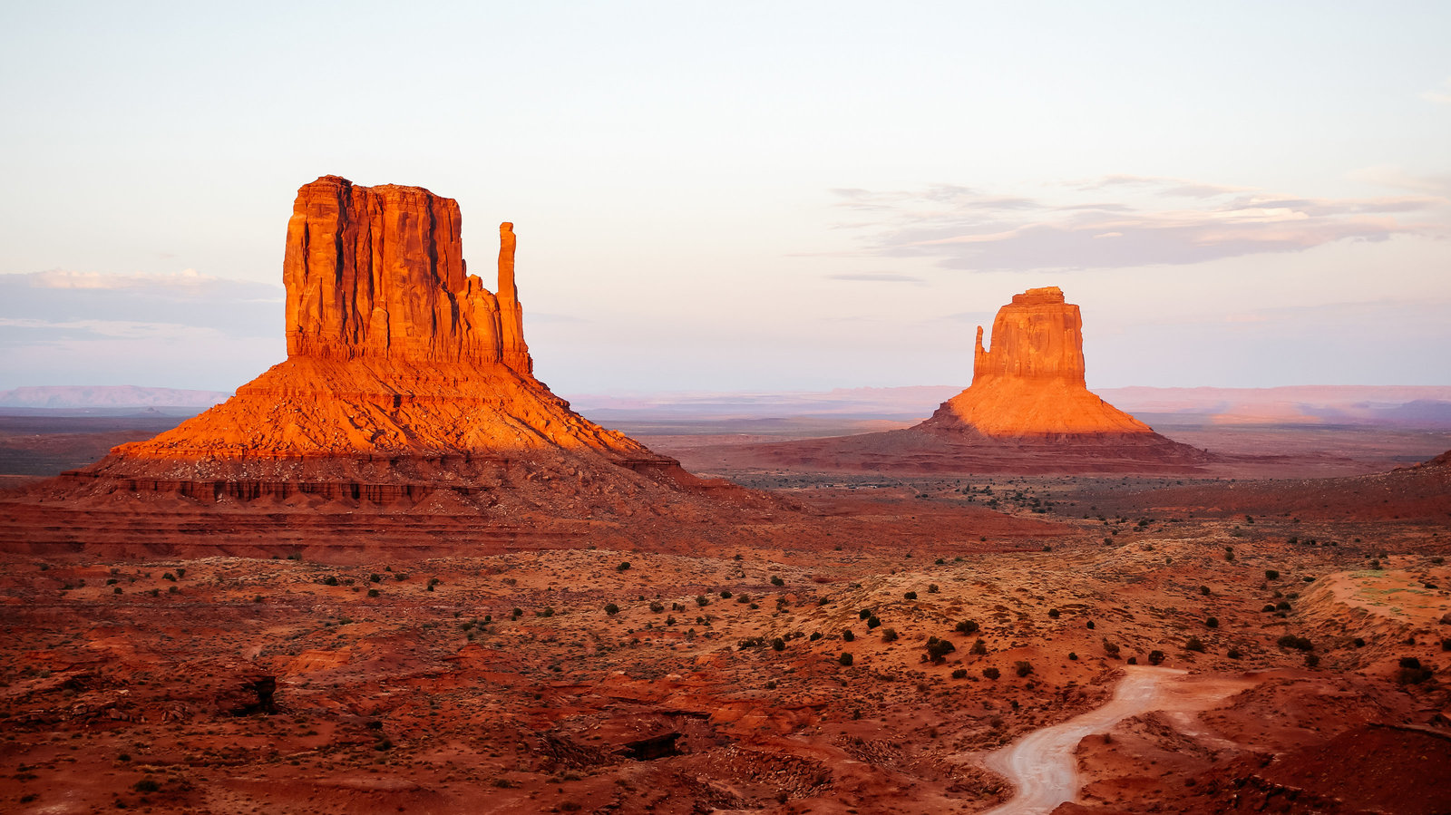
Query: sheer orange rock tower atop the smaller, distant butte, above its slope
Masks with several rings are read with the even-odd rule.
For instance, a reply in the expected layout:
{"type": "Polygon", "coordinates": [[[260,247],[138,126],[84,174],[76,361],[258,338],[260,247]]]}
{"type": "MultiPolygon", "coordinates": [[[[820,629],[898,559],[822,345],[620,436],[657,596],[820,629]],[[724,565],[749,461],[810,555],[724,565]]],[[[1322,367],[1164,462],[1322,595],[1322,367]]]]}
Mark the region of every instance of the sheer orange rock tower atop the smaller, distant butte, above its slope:
{"type": "Polygon", "coordinates": [[[1056,286],[1014,294],[992,320],[992,349],[982,348],[978,326],[972,383],[984,377],[1084,383],[1084,320],[1056,286]]]}

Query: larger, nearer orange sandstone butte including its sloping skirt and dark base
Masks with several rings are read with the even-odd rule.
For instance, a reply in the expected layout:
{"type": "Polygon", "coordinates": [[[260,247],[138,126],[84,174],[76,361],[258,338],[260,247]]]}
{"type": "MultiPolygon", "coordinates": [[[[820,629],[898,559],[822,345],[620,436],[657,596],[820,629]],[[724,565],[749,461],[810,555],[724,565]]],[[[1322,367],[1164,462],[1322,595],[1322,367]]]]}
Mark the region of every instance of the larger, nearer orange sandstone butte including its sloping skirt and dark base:
{"type": "Polygon", "coordinates": [[[467,274],[460,225],[454,200],[421,187],[335,175],[303,186],[283,264],[287,360],[225,403],[30,497],[334,515],[387,508],[522,532],[541,519],[699,516],[721,499],[759,500],[595,425],[534,378],[514,225],[499,226],[498,291],[467,274]]]}

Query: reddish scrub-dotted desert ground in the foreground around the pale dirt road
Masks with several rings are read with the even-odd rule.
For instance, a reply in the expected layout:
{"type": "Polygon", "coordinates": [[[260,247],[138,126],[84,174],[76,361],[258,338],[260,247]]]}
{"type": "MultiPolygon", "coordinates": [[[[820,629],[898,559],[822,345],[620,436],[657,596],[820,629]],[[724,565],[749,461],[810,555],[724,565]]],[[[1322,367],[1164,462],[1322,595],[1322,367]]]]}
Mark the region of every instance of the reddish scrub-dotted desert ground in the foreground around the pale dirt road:
{"type": "Polygon", "coordinates": [[[33,538],[0,558],[0,802],[979,812],[1011,793],[988,751],[1098,708],[1161,651],[1254,687],[1084,738],[1064,811],[1284,790],[1318,812],[1436,811],[1445,522],[1097,516],[1164,479],[807,481],[730,525],[531,519],[514,541],[363,503],[45,524],[12,506],[7,538],[33,538]],[[421,557],[429,541],[453,555],[421,557]],[[932,637],[953,645],[940,663],[932,637]],[[1354,798],[1339,774],[1361,744],[1426,758],[1367,764],[1394,783],[1354,798]]]}

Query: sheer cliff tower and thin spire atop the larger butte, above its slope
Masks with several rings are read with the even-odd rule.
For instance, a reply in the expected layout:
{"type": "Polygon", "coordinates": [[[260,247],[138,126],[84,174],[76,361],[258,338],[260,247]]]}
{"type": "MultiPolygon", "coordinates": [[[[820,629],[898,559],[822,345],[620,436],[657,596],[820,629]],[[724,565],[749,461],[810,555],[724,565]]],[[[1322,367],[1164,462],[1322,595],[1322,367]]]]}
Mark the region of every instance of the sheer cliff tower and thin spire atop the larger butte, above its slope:
{"type": "Polygon", "coordinates": [[[531,376],[512,225],[499,228],[496,296],[464,268],[461,220],[457,202],[422,187],[324,175],[297,190],[283,260],[287,355],[467,360],[531,376]]]}

